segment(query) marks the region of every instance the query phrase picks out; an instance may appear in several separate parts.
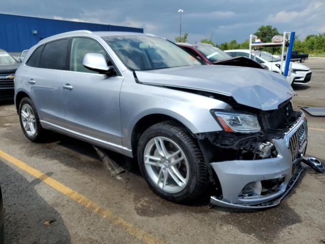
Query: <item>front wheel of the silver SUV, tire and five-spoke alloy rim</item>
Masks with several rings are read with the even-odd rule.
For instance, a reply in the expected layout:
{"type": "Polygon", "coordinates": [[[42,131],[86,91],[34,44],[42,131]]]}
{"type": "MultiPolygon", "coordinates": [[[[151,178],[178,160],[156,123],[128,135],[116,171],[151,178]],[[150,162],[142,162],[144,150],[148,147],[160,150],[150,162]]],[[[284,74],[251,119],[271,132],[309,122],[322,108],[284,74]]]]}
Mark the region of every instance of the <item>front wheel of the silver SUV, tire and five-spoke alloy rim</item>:
{"type": "Polygon", "coordinates": [[[208,166],[202,152],[196,140],[176,121],[164,121],[149,127],[139,139],[137,155],[140,171],[149,188],[164,199],[190,203],[208,188],[208,166]],[[160,154],[164,151],[161,141],[167,156],[175,155],[174,157],[168,160],[165,157],[164,160],[160,154]],[[160,153],[156,143],[160,147],[160,153]],[[180,153],[177,154],[178,151],[180,153]],[[154,157],[154,160],[149,159],[148,155],[154,157]]]}

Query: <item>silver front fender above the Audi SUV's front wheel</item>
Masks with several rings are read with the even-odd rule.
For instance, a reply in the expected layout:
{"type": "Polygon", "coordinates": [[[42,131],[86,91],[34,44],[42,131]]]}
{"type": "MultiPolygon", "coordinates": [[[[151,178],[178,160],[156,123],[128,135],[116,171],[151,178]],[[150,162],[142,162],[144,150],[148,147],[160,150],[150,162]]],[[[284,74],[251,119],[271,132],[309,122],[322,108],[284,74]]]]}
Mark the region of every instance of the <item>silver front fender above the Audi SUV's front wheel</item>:
{"type": "Polygon", "coordinates": [[[138,121],[151,114],[170,116],[191,133],[221,131],[211,115],[211,109],[226,109],[230,105],[198,94],[171,88],[123,82],[120,94],[122,144],[132,148],[132,133],[138,121]]]}

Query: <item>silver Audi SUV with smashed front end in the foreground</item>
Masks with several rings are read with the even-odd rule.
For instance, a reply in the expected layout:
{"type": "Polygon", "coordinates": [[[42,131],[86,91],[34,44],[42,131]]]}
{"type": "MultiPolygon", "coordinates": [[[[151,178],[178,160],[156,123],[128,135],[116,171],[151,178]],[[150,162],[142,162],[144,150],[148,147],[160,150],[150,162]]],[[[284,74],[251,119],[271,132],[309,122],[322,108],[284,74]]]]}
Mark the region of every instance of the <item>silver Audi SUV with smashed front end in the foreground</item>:
{"type": "Polygon", "coordinates": [[[277,205],[296,182],[307,121],[285,79],[203,65],[153,35],[75,31],[30,48],[15,75],[25,136],[66,134],[136,158],[174,202],[277,205]]]}

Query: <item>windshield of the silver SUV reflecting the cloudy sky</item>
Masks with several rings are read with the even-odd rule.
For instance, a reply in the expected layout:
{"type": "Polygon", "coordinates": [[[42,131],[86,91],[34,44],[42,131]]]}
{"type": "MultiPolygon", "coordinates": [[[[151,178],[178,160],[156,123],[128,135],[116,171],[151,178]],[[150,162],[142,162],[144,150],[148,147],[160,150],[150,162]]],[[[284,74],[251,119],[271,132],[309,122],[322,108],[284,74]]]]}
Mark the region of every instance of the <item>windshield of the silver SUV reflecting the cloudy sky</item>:
{"type": "Polygon", "coordinates": [[[110,45],[125,66],[131,70],[156,70],[201,63],[176,44],[150,36],[109,36],[110,45]]]}

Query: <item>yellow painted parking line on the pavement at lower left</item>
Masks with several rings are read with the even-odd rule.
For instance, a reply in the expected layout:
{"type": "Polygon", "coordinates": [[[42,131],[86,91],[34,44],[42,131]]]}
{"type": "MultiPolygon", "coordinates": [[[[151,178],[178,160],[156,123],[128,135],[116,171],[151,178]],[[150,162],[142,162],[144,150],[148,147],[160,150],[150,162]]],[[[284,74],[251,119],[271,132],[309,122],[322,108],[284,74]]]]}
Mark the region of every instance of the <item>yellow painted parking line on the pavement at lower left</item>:
{"type": "Polygon", "coordinates": [[[157,239],[155,236],[145,232],[142,229],[137,228],[134,224],[131,224],[131,223],[127,222],[126,220],[122,219],[121,217],[115,215],[111,210],[99,206],[97,203],[90,200],[89,198],[79,194],[78,192],[75,192],[74,190],[70,189],[69,187],[64,186],[59,181],[47,176],[46,174],[42,173],[41,171],[12,157],[11,155],[6,154],[2,150],[0,150],[0,157],[6,161],[12,163],[13,165],[17,166],[21,170],[27,172],[28,174],[34,176],[35,178],[41,179],[45,184],[54,188],[58,192],[70,197],[72,200],[80,203],[81,205],[92,210],[96,214],[99,214],[103,218],[111,221],[115,225],[124,228],[130,234],[134,235],[135,237],[144,241],[145,243],[148,243],[148,244],[164,243],[162,240],[157,239]]]}

